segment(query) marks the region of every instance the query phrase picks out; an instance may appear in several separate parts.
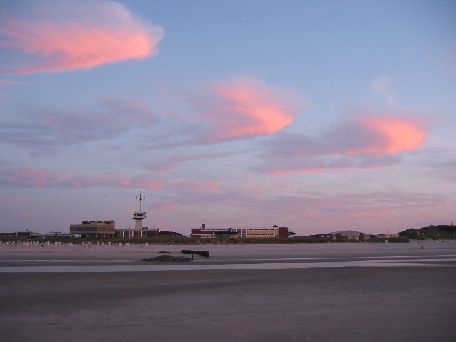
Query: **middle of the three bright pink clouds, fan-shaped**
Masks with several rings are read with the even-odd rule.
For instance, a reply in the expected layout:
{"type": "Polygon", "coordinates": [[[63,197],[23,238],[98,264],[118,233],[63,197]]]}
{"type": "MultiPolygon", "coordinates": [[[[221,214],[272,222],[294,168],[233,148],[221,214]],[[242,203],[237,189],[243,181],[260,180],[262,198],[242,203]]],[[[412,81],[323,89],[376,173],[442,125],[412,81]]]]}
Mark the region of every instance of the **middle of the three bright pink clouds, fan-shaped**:
{"type": "Polygon", "coordinates": [[[212,122],[207,140],[227,140],[274,133],[292,123],[303,110],[303,100],[294,91],[241,78],[211,88],[213,103],[203,109],[212,122]]]}

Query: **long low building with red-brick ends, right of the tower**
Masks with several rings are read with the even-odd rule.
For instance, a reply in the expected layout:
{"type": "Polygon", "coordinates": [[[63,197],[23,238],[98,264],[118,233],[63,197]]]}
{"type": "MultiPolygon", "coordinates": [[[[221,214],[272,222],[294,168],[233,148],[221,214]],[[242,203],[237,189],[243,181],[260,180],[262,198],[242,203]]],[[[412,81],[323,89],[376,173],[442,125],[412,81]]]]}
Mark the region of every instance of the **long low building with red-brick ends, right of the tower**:
{"type": "Polygon", "coordinates": [[[201,228],[191,229],[192,238],[287,238],[288,228],[274,225],[271,228],[201,228]]]}

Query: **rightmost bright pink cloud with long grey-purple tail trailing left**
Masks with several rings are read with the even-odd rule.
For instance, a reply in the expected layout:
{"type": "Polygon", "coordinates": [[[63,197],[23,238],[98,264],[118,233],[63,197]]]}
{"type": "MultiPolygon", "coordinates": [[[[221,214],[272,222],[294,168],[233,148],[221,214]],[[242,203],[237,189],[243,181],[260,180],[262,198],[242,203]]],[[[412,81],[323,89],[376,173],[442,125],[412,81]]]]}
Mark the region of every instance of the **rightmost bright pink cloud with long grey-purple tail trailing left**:
{"type": "Polygon", "coordinates": [[[419,148],[426,136],[419,120],[364,115],[316,137],[282,133],[267,142],[267,153],[256,169],[272,175],[375,169],[396,164],[399,153],[419,148]]]}

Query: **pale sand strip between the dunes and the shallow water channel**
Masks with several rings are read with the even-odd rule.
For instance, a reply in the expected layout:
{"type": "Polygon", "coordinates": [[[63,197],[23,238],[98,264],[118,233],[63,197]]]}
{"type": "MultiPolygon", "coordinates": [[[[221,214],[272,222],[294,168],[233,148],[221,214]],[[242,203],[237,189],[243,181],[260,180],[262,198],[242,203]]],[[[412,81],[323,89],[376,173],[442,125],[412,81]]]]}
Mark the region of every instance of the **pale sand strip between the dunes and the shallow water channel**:
{"type": "MultiPolygon", "coordinates": [[[[173,256],[182,254],[182,249],[209,251],[209,258],[195,255],[195,262],[238,263],[252,260],[303,259],[303,258],[368,258],[390,256],[434,256],[456,254],[456,242],[453,243],[323,243],[323,244],[236,244],[236,245],[0,245],[0,266],[21,262],[22,265],[110,265],[125,263],[142,265],[142,258],[160,256],[167,252],[173,256]],[[423,247],[423,249],[421,249],[423,247]],[[30,263],[30,261],[34,263],[30,263]]],[[[190,256],[191,257],[191,256],[190,256]]]]}

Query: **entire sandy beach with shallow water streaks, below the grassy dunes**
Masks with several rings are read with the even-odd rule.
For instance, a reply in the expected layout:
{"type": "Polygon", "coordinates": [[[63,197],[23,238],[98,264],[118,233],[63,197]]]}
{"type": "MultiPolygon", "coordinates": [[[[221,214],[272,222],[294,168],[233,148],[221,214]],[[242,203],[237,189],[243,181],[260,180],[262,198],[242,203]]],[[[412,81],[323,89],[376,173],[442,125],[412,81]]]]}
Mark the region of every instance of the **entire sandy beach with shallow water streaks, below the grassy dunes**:
{"type": "Polygon", "coordinates": [[[1,245],[0,288],[3,341],[456,336],[456,243],[1,245]]]}

